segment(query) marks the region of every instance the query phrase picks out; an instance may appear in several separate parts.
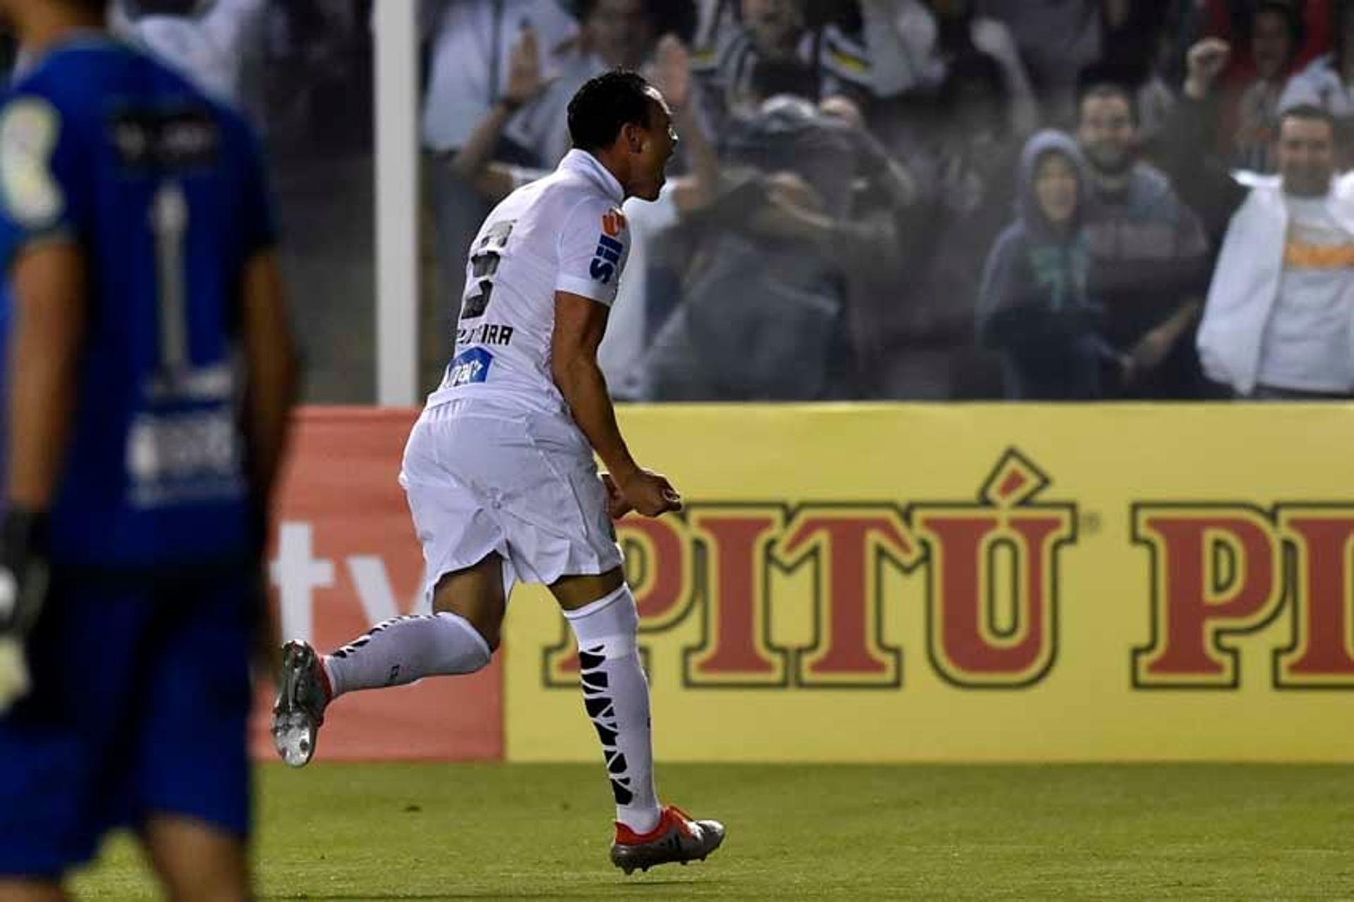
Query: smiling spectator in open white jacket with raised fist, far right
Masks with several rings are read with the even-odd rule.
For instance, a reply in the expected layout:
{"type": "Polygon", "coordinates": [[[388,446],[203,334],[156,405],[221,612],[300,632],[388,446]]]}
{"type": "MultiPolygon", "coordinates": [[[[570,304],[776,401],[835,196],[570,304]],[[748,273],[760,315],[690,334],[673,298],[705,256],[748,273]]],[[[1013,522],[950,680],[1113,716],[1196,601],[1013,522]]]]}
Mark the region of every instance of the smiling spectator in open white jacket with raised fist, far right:
{"type": "Polygon", "coordinates": [[[1169,129],[1178,184],[1213,180],[1235,210],[1198,333],[1208,375],[1244,398],[1354,397],[1354,176],[1336,176],[1335,121],[1317,106],[1282,110],[1278,176],[1206,165],[1216,146],[1206,102],[1228,46],[1189,54],[1182,115],[1169,129]]]}

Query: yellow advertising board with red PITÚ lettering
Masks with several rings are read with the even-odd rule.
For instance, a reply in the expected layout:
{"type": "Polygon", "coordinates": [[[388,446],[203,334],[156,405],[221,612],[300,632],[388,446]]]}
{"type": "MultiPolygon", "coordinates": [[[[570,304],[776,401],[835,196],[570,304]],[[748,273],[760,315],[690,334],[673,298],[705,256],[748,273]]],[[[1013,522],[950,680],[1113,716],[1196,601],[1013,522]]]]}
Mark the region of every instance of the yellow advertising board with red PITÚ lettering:
{"type": "MultiPolygon", "coordinates": [[[[1354,408],[631,408],[658,757],[1354,758],[1354,408]]],[[[600,754],[548,595],[506,754],[600,754]]]]}

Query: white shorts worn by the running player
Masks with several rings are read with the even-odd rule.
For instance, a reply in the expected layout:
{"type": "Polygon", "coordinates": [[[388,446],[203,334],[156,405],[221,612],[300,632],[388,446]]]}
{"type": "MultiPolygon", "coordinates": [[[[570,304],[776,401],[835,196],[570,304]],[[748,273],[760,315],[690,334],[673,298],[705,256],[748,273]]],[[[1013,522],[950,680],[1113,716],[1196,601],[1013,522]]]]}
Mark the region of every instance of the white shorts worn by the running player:
{"type": "Polygon", "coordinates": [[[490,553],[504,589],[607,573],[621,563],[607,489],[578,427],[563,414],[487,401],[424,410],[405,446],[399,485],[424,551],[424,604],[437,581],[490,553]]]}

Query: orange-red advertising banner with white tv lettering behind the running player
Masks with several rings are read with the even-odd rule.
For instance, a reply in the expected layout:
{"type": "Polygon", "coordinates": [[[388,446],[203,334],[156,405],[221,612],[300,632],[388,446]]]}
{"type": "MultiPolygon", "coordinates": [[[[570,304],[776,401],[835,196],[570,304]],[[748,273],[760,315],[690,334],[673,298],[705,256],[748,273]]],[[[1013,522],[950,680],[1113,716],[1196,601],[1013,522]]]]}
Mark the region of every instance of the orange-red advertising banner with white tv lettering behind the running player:
{"type": "MultiPolygon", "coordinates": [[[[417,410],[306,408],[297,418],[271,554],[283,639],[338,647],[418,601],[422,555],[397,481],[417,410]]],[[[355,692],[333,704],[318,760],[498,760],[501,657],[473,676],[355,692]]],[[[255,757],[275,757],[272,688],[260,689],[255,757]]]]}

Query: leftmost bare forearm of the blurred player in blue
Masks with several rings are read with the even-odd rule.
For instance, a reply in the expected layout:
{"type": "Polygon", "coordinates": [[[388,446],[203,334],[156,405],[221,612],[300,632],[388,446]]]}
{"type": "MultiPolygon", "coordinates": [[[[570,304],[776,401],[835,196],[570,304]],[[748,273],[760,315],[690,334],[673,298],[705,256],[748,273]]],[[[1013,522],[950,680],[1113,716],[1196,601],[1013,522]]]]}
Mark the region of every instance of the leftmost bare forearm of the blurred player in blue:
{"type": "Polygon", "coordinates": [[[85,261],[69,242],[27,249],[12,270],[9,504],[45,511],[70,435],[85,330],[85,261]]]}

